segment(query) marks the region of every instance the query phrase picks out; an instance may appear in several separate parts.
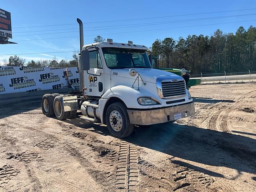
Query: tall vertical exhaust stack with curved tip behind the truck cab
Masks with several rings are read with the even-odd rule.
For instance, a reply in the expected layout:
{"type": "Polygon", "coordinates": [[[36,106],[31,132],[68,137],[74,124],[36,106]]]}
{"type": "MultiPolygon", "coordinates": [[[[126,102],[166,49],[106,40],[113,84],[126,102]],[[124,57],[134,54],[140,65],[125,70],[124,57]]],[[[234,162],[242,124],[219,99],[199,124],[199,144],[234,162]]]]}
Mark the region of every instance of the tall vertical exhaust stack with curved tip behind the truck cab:
{"type": "Polygon", "coordinates": [[[80,92],[84,92],[84,71],[82,70],[81,51],[84,46],[84,27],[83,22],[80,19],[76,19],[79,24],[79,36],[80,36],[80,54],[78,56],[78,71],[79,71],[79,86],[80,92]]]}

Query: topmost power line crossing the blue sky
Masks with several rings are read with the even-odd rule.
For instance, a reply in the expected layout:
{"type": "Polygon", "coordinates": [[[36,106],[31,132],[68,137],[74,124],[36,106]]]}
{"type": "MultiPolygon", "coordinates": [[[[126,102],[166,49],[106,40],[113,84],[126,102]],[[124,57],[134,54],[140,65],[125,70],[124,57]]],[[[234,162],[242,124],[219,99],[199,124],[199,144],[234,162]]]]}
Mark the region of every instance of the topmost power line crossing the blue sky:
{"type": "MultiPolygon", "coordinates": [[[[160,17],[148,17],[148,18],[137,18],[137,19],[124,19],[124,20],[110,20],[110,21],[98,21],[98,22],[85,22],[84,24],[105,23],[105,22],[121,22],[121,21],[132,21],[132,20],[145,20],[145,19],[168,18],[168,17],[178,17],[178,16],[192,16],[192,15],[202,15],[202,14],[212,14],[212,13],[224,13],[224,12],[235,12],[235,11],[246,11],[246,10],[256,10],[256,8],[238,9],[238,10],[227,10],[227,11],[216,11],[216,12],[204,12],[204,13],[192,13],[192,14],[180,14],[180,15],[160,16],[160,17]]],[[[34,27],[50,27],[50,26],[64,26],[64,25],[77,25],[77,23],[70,23],[70,24],[52,24],[52,25],[41,25],[41,26],[26,26],[26,27],[14,27],[14,28],[15,28],[15,29],[17,29],[17,28],[34,28],[34,27]]]]}

